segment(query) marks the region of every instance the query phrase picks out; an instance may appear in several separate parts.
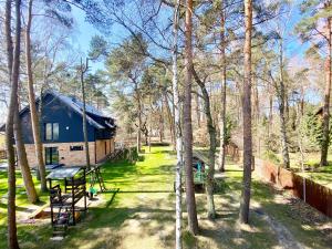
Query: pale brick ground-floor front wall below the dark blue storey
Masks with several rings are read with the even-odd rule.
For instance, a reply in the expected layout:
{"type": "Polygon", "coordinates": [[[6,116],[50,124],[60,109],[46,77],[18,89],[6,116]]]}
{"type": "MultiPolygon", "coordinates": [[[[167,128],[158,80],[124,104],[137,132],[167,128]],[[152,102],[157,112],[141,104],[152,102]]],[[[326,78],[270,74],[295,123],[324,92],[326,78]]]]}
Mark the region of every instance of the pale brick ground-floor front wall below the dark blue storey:
{"type": "MultiPolygon", "coordinates": [[[[59,151],[59,163],[64,164],[66,166],[81,166],[85,165],[85,151],[84,151],[84,143],[56,143],[56,144],[44,144],[43,148],[45,147],[58,147],[59,151]],[[83,146],[83,151],[70,151],[70,146],[83,146]]],[[[30,167],[37,167],[38,160],[35,156],[34,145],[33,144],[25,144],[25,151],[28,156],[28,162],[30,167]]],[[[90,164],[95,164],[95,144],[94,142],[89,143],[89,151],[90,151],[90,164]]],[[[43,156],[45,149],[43,149],[43,156]]]]}

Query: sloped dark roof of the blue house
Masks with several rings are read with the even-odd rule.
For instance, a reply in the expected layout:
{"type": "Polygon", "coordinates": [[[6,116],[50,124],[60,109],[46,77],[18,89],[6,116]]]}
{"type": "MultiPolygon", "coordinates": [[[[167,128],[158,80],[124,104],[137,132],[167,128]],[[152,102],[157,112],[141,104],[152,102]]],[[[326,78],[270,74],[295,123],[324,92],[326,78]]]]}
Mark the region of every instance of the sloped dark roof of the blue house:
{"type": "MultiPolygon", "coordinates": [[[[80,101],[77,97],[74,96],[66,96],[64,94],[61,94],[54,90],[46,90],[43,93],[43,96],[46,96],[48,94],[54,96],[62,103],[64,103],[66,106],[72,108],[74,112],[83,116],[83,102],[80,101]]],[[[40,97],[35,100],[35,103],[40,101],[40,97]]],[[[20,111],[20,115],[24,112],[27,112],[30,108],[29,105],[27,105],[24,108],[20,111]]],[[[114,118],[105,115],[97,108],[95,108],[92,105],[85,104],[85,111],[86,111],[86,121],[89,124],[94,126],[97,129],[103,129],[103,128],[116,128],[116,125],[114,124],[114,118]]],[[[4,129],[4,125],[0,127],[0,129],[4,129]]]]}

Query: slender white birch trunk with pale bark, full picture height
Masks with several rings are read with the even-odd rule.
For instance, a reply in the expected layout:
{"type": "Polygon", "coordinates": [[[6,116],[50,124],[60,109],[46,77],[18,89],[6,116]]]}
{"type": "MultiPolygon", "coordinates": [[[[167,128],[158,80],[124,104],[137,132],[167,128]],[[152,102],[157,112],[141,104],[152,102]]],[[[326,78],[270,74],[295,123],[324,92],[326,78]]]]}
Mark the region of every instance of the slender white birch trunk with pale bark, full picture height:
{"type": "Polygon", "coordinates": [[[183,193],[181,193],[181,172],[183,172],[183,135],[180,124],[180,103],[178,94],[178,79],[177,79],[177,48],[178,48],[178,19],[179,19],[180,0],[175,0],[174,22],[173,22],[173,51],[172,51],[172,71],[173,71],[173,100],[174,100],[174,127],[176,135],[176,168],[175,168],[175,248],[181,249],[181,220],[183,220],[183,193]]]}

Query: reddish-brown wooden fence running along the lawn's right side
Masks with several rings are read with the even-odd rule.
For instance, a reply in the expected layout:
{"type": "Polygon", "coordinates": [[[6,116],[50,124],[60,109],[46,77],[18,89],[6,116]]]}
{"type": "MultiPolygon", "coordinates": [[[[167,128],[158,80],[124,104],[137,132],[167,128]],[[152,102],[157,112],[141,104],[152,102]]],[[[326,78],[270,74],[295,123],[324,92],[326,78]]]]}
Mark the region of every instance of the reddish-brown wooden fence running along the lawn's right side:
{"type": "Polygon", "coordinates": [[[258,158],[256,158],[256,174],[283,189],[291,190],[293,196],[332,218],[331,188],[258,158]]]}

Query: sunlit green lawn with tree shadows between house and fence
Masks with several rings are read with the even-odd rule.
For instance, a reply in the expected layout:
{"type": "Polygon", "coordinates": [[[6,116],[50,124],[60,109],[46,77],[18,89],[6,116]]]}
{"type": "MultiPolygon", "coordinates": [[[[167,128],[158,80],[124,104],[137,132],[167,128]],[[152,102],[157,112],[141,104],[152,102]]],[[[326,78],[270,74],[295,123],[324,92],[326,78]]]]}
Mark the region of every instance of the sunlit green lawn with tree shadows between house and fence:
{"type": "MultiPolygon", "coordinates": [[[[89,209],[87,216],[61,242],[50,241],[50,224],[19,225],[21,248],[174,248],[175,195],[173,193],[175,155],[169,147],[153,147],[141,162],[107,163],[103,176],[107,188],[120,188],[117,194],[103,194],[105,201],[89,209]]],[[[320,229],[321,222],[307,222],[282,194],[256,178],[252,181],[251,226],[237,224],[241,169],[228,164],[224,181],[215,195],[218,218],[206,218],[206,196],[197,194],[200,232],[193,237],[184,232],[185,248],[277,248],[280,238],[271,229],[273,222],[287,227],[294,240],[307,248],[329,248],[331,240],[320,229]],[[255,209],[255,210],[253,210],[255,209]]],[[[3,175],[1,175],[3,177],[3,175]]],[[[2,178],[1,195],[7,190],[2,178]]],[[[184,206],[184,210],[186,210],[184,206]]],[[[186,212],[184,214],[186,226],[186,212]]],[[[0,225],[0,248],[6,248],[6,224],[0,225]]]]}

